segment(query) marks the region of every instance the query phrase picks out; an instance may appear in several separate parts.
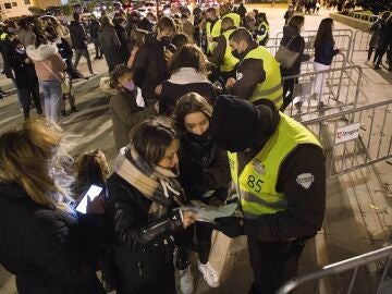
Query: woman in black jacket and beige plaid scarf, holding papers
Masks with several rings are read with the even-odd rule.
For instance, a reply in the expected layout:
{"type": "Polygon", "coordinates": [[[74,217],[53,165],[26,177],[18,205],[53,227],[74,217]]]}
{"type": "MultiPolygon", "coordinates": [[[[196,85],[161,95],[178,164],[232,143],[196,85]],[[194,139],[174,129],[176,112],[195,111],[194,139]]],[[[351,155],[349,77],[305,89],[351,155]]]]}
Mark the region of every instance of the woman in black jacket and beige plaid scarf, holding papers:
{"type": "Polygon", "coordinates": [[[171,235],[195,221],[181,207],[173,210],[184,201],[179,144],[171,125],[154,119],[133,130],[115,159],[108,181],[113,242],[103,277],[118,294],[175,293],[171,235]]]}

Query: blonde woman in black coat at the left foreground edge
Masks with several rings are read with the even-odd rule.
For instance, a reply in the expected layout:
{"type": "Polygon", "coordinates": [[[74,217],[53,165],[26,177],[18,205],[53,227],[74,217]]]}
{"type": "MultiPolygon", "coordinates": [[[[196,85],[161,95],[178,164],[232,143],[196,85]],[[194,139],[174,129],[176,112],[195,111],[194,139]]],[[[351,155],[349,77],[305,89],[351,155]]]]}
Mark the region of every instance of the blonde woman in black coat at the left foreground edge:
{"type": "Polygon", "coordinates": [[[20,294],[105,294],[96,274],[103,198],[86,215],[72,208],[63,138],[58,125],[34,119],[0,137],[0,264],[20,294]]]}

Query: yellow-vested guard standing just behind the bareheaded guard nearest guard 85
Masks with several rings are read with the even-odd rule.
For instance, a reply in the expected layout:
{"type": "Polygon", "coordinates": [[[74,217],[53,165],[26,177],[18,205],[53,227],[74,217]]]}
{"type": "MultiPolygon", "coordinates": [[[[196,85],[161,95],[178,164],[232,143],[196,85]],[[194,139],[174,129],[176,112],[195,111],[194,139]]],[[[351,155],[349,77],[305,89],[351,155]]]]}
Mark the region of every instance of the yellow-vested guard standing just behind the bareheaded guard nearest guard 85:
{"type": "Polygon", "coordinates": [[[230,77],[235,77],[235,65],[238,59],[233,57],[229,44],[230,35],[235,30],[234,22],[230,17],[222,20],[222,34],[217,39],[217,48],[213,49],[211,57],[208,60],[219,68],[219,74],[223,77],[224,82],[230,77]]]}

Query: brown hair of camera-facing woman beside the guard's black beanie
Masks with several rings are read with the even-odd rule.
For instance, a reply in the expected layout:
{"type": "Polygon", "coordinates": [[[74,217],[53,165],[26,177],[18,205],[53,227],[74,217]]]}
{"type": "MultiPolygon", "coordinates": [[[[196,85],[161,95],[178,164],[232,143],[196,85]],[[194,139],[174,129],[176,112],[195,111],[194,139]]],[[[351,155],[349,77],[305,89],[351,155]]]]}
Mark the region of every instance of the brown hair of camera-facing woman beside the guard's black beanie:
{"type": "Polygon", "coordinates": [[[203,112],[208,119],[212,117],[212,107],[206,98],[197,93],[188,93],[176,102],[174,126],[181,133],[186,133],[184,120],[189,113],[203,112]]]}

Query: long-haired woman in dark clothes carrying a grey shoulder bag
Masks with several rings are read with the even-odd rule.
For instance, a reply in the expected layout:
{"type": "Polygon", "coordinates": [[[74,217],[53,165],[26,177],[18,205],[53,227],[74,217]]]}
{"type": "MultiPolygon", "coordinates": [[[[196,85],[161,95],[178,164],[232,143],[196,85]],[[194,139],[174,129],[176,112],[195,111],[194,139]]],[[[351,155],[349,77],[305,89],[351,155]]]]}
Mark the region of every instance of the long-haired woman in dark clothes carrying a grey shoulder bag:
{"type": "MultiPolygon", "coordinates": [[[[294,15],[290,19],[289,25],[283,27],[283,38],[281,40],[281,45],[286,47],[290,51],[298,52],[299,56],[292,68],[284,69],[281,66],[282,77],[299,74],[301,63],[313,58],[313,53],[304,53],[305,40],[299,35],[304,24],[305,17],[303,15],[294,15]]],[[[284,109],[292,102],[294,85],[297,83],[298,78],[283,81],[283,105],[280,109],[281,111],[284,111],[284,109]]]]}

